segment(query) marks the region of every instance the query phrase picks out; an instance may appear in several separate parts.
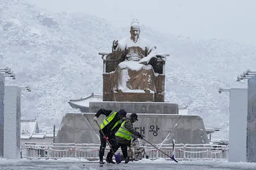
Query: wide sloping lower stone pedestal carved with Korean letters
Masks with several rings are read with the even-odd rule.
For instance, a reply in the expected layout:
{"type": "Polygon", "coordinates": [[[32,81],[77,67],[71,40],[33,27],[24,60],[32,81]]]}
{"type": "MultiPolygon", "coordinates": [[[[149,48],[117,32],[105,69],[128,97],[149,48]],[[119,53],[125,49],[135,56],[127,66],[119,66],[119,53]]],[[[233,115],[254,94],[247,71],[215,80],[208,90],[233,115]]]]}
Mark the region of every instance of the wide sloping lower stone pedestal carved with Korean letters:
{"type": "MultiPolygon", "coordinates": [[[[99,144],[95,113],[66,113],[62,118],[56,143],[99,144]]],[[[127,114],[127,117],[130,114],[127,114]]],[[[99,117],[99,123],[105,118],[99,117]]],[[[209,144],[202,118],[198,115],[138,114],[134,128],[153,144],[209,144]]]]}

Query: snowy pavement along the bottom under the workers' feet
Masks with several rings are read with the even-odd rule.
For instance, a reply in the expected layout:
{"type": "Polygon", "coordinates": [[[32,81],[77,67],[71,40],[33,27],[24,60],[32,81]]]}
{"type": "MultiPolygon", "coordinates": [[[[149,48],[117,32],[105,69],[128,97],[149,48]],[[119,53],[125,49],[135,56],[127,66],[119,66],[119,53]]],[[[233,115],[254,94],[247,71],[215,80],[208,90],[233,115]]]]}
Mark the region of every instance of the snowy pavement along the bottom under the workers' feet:
{"type": "Polygon", "coordinates": [[[0,159],[0,170],[256,170],[256,163],[227,161],[165,161],[148,159],[129,162],[128,164],[108,164],[99,166],[98,161],[75,158],[58,160],[45,159],[0,159]]]}

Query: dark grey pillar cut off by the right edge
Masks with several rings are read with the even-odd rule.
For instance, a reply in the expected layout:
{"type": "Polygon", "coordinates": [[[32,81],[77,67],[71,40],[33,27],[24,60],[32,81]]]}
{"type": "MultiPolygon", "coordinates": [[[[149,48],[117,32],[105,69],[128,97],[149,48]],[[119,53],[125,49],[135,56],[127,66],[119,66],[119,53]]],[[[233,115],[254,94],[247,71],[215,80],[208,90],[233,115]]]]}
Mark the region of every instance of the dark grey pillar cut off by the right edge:
{"type": "Polygon", "coordinates": [[[248,79],[247,162],[256,162],[256,79],[248,79]]]}

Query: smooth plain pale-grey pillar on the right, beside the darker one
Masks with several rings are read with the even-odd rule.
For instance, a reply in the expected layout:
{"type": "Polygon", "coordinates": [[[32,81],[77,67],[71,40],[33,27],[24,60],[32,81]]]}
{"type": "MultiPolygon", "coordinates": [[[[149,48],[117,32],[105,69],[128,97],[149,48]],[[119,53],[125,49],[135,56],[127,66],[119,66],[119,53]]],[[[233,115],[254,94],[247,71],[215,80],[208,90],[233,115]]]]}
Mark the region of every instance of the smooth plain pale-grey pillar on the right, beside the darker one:
{"type": "Polygon", "coordinates": [[[246,162],[247,89],[231,88],[229,99],[229,162],[246,162]]]}

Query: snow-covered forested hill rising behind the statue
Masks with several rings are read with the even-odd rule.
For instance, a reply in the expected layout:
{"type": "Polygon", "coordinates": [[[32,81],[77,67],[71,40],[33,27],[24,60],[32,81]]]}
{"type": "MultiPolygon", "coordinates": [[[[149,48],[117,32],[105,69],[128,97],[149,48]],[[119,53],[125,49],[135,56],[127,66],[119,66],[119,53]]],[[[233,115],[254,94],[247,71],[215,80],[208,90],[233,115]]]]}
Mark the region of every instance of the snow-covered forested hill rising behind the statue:
{"type": "MultiPolygon", "coordinates": [[[[102,59],[112,40],[129,35],[129,24],[117,30],[107,21],[79,13],[48,13],[20,0],[0,3],[0,67],[10,66],[17,79],[7,83],[31,84],[23,92],[22,117],[39,120],[43,131],[59,125],[72,108],[67,101],[91,92],[102,93],[102,59]]],[[[143,21],[141,21],[143,23],[143,21]]],[[[171,29],[171,28],[170,28],[171,29]]],[[[236,76],[256,65],[256,47],[225,40],[193,41],[161,34],[142,26],[141,36],[168,52],[165,100],[189,106],[206,127],[221,127],[215,137],[228,138],[228,94],[219,87],[246,86],[236,76]]]]}

